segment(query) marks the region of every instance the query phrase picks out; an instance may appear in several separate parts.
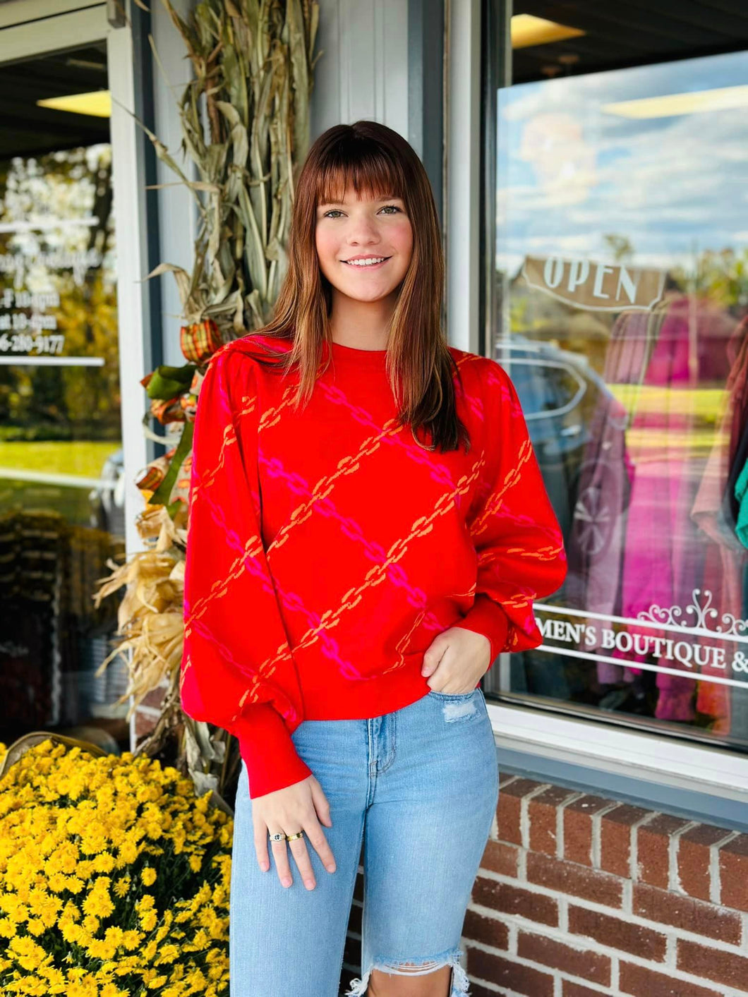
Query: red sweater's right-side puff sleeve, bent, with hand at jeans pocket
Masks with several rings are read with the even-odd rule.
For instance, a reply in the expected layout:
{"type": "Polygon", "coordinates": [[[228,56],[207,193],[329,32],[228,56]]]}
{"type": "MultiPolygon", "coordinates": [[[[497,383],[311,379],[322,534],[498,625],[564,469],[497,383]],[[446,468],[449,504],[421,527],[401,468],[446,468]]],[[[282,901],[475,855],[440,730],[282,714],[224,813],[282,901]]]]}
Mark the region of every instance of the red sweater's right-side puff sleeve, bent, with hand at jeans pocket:
{"type": "Polygon", "coordinates": [[[493,665],[502,651],[543,643],[533,601],[561,586],[566,555],[517,390],[499,363],[484,359],[486,477],[468,523],[478,578],[474,605],[457,625],[489,638],[493,665]]]}

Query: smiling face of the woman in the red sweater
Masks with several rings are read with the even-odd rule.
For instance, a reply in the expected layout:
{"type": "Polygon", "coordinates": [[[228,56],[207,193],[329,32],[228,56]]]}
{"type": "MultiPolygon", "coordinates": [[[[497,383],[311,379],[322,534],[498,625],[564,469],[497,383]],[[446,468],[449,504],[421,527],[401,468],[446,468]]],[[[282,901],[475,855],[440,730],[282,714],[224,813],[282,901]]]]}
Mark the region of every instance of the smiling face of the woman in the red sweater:
{"type": "Polygon", "coordinates": [[[379,301],[400,285],[413,253],[413,229],[400,197],[342,195],[317,206],[319,267],[332,286],[356,301],[379,301]],[[363,257],[363,263],[350,260],[363,257]],[[367,263],[367,258],[383,262],[367,263]]]}

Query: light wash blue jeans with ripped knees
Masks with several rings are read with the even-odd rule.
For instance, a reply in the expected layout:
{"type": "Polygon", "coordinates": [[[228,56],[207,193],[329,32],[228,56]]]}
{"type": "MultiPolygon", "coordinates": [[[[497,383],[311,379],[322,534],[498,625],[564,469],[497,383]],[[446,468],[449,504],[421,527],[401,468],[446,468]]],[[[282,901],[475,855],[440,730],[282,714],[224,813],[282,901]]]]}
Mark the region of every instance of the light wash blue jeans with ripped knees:
{"type": "Polygon", "coordinates": [[[338,997],[363,843],[362,979],[452,966],[450,997],[468,994],[463,921],[499,801],[494,735],[482,689],[428,692],[368,720],[306,720],[293,732],[330,804],[328,872],[305,840],[316,886],[257,864],[246,769],[236,794],[230,906],[231,997],[338,997]],[[410,967],[410,968],[408,968],[410,967]]]}

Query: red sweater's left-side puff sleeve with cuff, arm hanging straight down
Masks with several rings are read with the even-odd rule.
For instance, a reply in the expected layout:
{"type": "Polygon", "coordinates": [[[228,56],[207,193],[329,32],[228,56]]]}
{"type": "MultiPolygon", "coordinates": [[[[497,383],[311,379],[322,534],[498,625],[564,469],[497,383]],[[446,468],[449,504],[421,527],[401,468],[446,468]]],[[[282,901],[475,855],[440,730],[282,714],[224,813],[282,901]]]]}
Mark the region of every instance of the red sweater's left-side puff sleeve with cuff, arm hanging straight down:
{"type": "Polygon", "coordinates": [[[260,532],[254,361],[210,358],[192,438],[181,697],[236,736],[252,799],[306,779],[296,667],[260,532]]]}

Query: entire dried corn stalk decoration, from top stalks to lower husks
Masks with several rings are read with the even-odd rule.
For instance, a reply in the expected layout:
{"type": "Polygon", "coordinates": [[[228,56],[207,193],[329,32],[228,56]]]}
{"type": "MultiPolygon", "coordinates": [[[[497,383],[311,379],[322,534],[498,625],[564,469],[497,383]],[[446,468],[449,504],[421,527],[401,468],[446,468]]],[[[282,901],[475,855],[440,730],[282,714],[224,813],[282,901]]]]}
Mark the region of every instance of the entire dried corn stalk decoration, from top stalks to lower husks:
{"type": "MultiPolygon", "coordinates": [[[[151,414],[163,422],[184,419],[188,432],[194,396],[183,389],[188,381],[198,384],[194,365],[204,362],[206,344],[225,343],[263,325],[285,277],[294,170],[309,144],[312,72],[321,55],[313,57],[319,7],[312,0],[202,0],[184,19],[170,0],[163,3],[192,65],[179,113],[181,150],[198,178],[187,176],[164,143],[139,124],[157,156],[191,191],[197,237],[191,273],[162,263],[149,275],[175,276],[183,309],[181,346],[192,364],[184,385],[179,369],[156,372],[161,380],[155,384],[167,378],[163,390],[173,382],[176,387],[167,391],[169,398],[156,392],[151,414]]],[[[154,55],[159,62],[155,47],[154,55]]],[[[219,792],[227,775],[227,735],[187,717],[179,692],[187,530],[180,483],[176,474],[169,475],[169,466],[178,461],[173,470],[179,472],[187,463],[187,439],[167,458],[152,462],[139,483],[150,503],[137,525],[149,549],[123,565],[109,562],[112,574],[100,579],[97,604],[127,586],[117,631],[124,639],[100,671],[117,655],[126,658],[130,682],[123,699],[134,699],[129,716],[149,692],[166,686],[156,729],[137,753],[155,754],[173,731],[184,729],[184,747],[174,764],[187,768],[198,792],[219,792]],[[157,495],[159,482],[165,484],[157,495]],[[217,775],[215,764],[221,767],[217,775]]]]}

